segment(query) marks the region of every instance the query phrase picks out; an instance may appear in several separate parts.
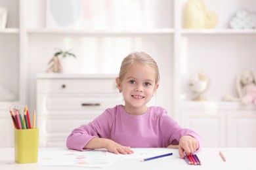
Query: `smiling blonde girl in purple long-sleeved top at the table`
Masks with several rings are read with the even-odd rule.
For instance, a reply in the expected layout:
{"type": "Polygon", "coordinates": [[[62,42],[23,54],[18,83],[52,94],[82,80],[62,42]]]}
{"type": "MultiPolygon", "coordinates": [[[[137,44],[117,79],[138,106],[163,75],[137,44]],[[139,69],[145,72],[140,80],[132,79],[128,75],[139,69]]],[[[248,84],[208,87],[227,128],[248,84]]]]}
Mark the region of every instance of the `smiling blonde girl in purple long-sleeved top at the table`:
{"type": "Polygon", "coordinates": [[[144,52],[123,59],[116,78],[125,105],[106,109],[87,126],[74,129],[67,147],[75,150],[106,148],[115,154],[133,154],[131,148],[167,147],[179,144],[184,158],[200,148],[200,136],[184,129],[161,107],[146,104],[156,90],[160,74],[153,58],[144,52]]]}

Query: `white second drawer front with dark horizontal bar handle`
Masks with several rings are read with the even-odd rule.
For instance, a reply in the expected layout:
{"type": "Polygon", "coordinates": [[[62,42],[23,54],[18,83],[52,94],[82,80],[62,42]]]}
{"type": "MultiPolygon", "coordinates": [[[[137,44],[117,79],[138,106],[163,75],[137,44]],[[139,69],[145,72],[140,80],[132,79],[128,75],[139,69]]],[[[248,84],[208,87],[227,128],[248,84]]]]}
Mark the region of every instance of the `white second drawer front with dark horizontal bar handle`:
{"type": "Polygon", "coordinates": [[[47,111],[105,110],[122,103],[121,96],[115,97],[47,97],[47,111]]]}

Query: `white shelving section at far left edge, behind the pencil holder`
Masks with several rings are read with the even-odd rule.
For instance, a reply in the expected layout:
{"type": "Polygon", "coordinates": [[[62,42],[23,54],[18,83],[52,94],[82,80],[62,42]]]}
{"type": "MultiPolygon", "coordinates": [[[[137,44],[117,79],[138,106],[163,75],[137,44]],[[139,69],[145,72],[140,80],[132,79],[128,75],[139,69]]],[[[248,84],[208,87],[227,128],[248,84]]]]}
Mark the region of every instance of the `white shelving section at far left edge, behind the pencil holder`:
{"type": "Polygon", "coordinates": [[[9,107],[24,107],[26,71],[24,59],[24,22],[21,1],[0,1],[8,10],[7,28],[0,29],[0,146],[14,146],[14,130],[9,107]],[[6,95],[9,93],[9,95],[6,95]]]}

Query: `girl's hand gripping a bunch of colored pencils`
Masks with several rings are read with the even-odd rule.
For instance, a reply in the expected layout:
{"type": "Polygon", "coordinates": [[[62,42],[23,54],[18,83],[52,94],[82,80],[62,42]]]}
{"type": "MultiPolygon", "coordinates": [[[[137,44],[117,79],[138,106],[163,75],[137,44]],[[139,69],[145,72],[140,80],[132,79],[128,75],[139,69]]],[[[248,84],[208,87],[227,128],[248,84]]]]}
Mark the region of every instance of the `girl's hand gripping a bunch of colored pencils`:
{"type": "Polygon", "coordinates": [[[192,136],[184,135],[179,142],[179,155],[184,158],[183,152],[186,152],[186,156],[193,154],[198,149],[198,140],[192,136]]]}

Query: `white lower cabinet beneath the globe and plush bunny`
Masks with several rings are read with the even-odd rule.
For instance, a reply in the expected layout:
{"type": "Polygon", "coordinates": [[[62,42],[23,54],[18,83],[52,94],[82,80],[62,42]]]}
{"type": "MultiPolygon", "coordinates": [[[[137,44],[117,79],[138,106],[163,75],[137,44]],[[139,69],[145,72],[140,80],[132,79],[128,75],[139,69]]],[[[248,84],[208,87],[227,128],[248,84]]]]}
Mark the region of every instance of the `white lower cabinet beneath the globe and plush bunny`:
{"type": "Polygon", "coordinates": [[[181,125],[202,137],[204,147],[256,147],[256,112],[238,103],[183,103],[181,125]]]}

